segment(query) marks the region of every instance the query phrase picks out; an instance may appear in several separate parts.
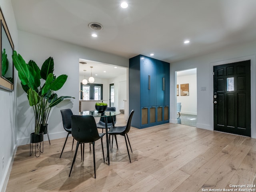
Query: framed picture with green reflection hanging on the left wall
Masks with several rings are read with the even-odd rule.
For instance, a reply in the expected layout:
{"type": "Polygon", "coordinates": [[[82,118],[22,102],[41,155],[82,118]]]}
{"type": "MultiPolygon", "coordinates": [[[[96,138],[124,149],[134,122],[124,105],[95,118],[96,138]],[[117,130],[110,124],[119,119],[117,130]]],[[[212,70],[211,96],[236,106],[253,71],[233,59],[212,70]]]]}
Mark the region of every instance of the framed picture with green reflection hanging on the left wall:
{"type": "Polygon", "coordinates": [[[12,62],[12,53],[14,44],[10,36],[2,9],[0,8],[0,34],[1,34],[1,60],[0,60],[0,88],[8,91],[14,90],[14,65],[12,62]]]}

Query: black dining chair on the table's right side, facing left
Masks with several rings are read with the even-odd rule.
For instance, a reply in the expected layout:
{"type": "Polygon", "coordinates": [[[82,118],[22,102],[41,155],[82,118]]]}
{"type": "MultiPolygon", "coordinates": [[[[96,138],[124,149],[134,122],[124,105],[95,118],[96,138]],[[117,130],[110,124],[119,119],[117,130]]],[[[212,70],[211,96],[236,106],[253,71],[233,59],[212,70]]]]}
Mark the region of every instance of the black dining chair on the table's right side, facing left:
{"type": "MultiPolygon", "coordinates": [[[[127,140],[128,140],[129,145],[130,145],[131,152],[132,152],[132,147],[131,147],[130,140],[128,138],[127,133],[130,131],[130,128],[131,128],[131,122],[132,122],[133,114],[134,114],[134,110],[132,110],[130,112],[130,115],[129,115],[126,126],[115,126],[114,128],[110,128],[110,130],[108,131],[109,140],[110,140],[111,135],[122,135],[122,136],[124,136],[130,163],[131,163],[131,158],[130,158],[130,153],[129,153],[129,149],[128,149],[128,145],[127,145],[127,140]],[[126,137],[127,137],[127,140],[126,140],[126,137]]],[[[113,148],[113,138],[112,138],[112,148],[113,148]]]]}

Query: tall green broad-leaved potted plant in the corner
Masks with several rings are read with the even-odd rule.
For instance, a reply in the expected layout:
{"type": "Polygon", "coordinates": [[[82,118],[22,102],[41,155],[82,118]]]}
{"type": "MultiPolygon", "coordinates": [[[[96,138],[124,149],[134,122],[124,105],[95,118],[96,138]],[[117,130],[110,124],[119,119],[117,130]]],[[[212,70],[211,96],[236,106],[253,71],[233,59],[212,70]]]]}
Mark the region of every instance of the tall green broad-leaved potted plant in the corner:
{"type": "Polygon", "coordinates": [[[16,51],[13,52],[12,60],[14,67],[18,71],[21,86],[27,94],[30,106],[32,106],[34,110],[35,127],[32,134],[36,135],[36,139],[32,140],[32,136],[30,136],[30,142],[42,142],[43,137],[40,132],[43,130],[41,126],[47,128],[50,110],[65,98],[71,98],[71,96],[58,97],[55,93],[55,91],[62,88],[68,76],[62,74],[56,77],[53,74],[54,61],[52,57],[44,61],[41,69],[33,60],[30,60],[28,64],[26,64],[22,56],[17,54],[16,51]],[[38,136],[39,134],[41,134],[40,137],[38,136]]]}

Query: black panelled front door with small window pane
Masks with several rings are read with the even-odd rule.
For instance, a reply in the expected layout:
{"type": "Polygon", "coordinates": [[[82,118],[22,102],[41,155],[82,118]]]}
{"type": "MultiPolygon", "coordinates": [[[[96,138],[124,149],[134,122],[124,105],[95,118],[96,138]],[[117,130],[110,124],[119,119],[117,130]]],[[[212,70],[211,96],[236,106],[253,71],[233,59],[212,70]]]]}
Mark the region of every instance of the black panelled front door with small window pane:
{"type": "Polygon", "coordinates": [[[214,66],[214,130],[251,136],[250,60],[214,66]]]}

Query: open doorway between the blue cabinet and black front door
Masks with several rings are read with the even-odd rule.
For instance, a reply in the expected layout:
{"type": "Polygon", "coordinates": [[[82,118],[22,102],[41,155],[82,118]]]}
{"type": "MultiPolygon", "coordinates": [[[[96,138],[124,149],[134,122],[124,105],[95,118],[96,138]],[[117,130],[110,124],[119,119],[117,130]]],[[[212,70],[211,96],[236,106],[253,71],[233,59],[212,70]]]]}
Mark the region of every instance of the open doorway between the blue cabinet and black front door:
{"type": "Polygon", "coordinates": [[[177,123],[196,127],[197,74],[196,68],[176,72],[177,123]]]}

